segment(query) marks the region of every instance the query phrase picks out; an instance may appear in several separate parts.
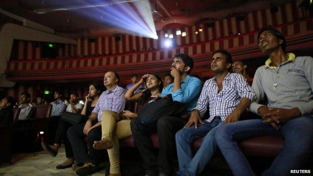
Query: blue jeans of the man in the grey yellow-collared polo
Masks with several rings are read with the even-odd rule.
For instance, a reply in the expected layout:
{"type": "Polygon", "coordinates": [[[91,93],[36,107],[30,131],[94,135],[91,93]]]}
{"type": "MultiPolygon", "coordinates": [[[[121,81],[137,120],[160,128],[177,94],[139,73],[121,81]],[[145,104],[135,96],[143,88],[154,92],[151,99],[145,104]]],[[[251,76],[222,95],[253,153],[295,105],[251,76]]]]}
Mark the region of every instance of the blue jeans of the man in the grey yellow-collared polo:
{"type": "Polygon", "coordinates": [[[234,175],[255,175],[237,141],[260,135],[282,135],[284,146],[262,175],[290,175],[290,169],[300,169],[313,148],[313,117],[301,116],[282,124],[279,130],[261,119],[243,120],[217,129],[216,142],[234,175]]]}

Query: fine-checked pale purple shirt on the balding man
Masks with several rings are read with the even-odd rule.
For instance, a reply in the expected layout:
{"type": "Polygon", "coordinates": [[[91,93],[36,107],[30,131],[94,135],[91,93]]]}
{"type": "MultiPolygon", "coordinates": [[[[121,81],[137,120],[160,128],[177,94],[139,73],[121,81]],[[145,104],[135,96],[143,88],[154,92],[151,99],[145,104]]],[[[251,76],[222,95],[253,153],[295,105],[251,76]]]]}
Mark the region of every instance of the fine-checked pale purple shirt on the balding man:
{"type": "Polygon", "coordinates": [[[125,89],[115,86],[112,90],[102,92],[100,98],[92,112],[98,114],[98,121],[102,119],[102,111],[110,110],[120,112],[125,107],[125,89]]]}

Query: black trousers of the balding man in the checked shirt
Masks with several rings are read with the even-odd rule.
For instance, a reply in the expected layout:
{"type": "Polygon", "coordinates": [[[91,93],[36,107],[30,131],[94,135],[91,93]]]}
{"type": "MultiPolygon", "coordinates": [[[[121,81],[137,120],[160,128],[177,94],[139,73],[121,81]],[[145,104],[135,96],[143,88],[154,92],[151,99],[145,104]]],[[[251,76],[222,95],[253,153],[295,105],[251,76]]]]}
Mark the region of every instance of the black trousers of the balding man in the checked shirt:
{"type": "Polygon", "coordinates": [[[73,146],[73,152],[76,159],[76,164],[83,164],[84,162],[92,162],[98,164],[103,158],[103,152],[93,148],[94,141],[101,140],[101,125],[92,128],[87,135],[87,146],[84,141],[86,136],[83,132],[86,123],[78,124],[70,127],[67,130],[67,136],[71,145],[73,146]],[[89,152],[89,155],[88,155],[89,152]]]}

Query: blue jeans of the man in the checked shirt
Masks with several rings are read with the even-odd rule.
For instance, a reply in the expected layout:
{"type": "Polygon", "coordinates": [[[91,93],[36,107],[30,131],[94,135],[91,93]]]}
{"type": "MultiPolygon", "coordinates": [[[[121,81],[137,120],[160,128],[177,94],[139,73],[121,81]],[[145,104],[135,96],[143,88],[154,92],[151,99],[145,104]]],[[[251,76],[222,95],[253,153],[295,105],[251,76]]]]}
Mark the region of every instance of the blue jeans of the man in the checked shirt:
{"type": "Polygon", "coordinates": [[[176,133],[176,146],[179,162],[178,175],[196,175],[203,171],[208,161],[210,161],[216,149],[214,134],[217,126],[223,124],[221,117],[216,116],[211,122],[204,121],[205,124],[183,128],[176,133]],[[203,137],[201,147],[193,157],[192,144],[203,137]]]}

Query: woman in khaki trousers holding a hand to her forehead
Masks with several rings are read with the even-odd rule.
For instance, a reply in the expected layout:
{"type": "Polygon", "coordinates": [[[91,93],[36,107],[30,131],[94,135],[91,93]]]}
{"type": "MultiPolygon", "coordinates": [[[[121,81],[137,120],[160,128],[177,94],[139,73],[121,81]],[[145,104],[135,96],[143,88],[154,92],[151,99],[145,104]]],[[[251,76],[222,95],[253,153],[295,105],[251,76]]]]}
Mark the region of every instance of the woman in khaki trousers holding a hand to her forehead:
{"type": "MultiPolygon", "coordinates": [[[[129,102],[139,102],[140,104],[146,104],[152,102],[154,98],[158,97],[163,88],[162,79],[158,74],[149,73],[141,77],[140,81],[134,84],[127,90],[124,97],[129,102]],[[133,94],[133,92],[142,84],[145,83],[147,90],[133,94]]],[[[117,114],[116,114],[117,115],[117,114]]],[[[114,119],[103,119],[101,121],[102,126],[102,140],[94,142],[94,148],[96,149],[108,149],[108,155],[110,160],[110,174],[120,175],[119,168],[119,143],[118,140],[123,139],[131,135],[130,119],[137,117],[136,113],[128,110],[123,111],[123,117],[125,120],[119,120],[119,117],[113,117],[114,119]],[[115,120],[115,123],[114,123],[115,120]],[[118,122],[117,122],[118,121],[118,122]]]]}

